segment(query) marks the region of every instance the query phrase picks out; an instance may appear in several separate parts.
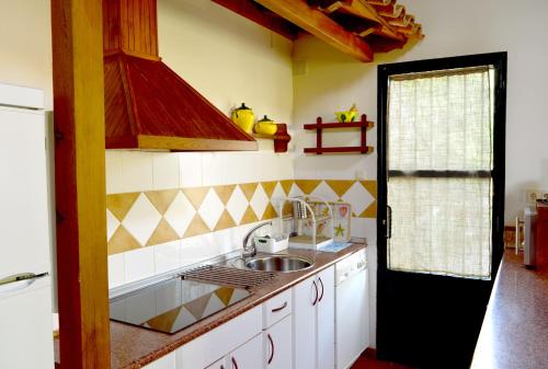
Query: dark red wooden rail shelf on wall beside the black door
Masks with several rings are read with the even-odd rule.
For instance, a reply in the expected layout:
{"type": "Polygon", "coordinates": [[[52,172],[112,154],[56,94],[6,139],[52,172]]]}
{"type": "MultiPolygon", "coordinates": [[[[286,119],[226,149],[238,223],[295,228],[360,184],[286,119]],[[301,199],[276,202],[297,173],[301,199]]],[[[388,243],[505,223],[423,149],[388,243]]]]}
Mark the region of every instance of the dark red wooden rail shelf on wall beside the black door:
{"type": "Polygon", "coordinates": [[[315,153],[321,155],[323,153],[372,153],[373,147],[367,146],[367,129],[374,127],[373,122],[367,120],[367,116],[362,114],[359,122],[349,123],[323,123],[321,117],[316,119],[316,124],[306,124],[305,129],[316,130],[316,148],[305,148],[305,153],[315,153]],[[323,129],[344,129],[344,128],[359,128],[361,130],[361,145],[350,147],[322,147],[323,129]]]}

